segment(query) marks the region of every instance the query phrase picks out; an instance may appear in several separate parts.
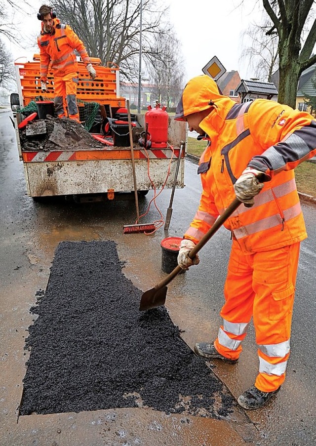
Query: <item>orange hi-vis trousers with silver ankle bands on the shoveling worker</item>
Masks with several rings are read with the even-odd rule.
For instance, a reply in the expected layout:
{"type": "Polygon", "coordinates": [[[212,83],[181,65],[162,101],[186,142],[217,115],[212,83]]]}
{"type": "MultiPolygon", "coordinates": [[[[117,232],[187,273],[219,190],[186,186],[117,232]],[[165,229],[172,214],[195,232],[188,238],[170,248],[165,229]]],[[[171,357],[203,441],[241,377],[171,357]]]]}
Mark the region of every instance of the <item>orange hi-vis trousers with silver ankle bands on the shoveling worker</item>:
{"type": "Polygon", "coordinates": [[[259,373],[255,386],[276,390],[285,379],[300,243],[244,254],[233,240],[224,287],[223,325],[214,342],[226,358],[237,359],[253,317],[259,373]]]}

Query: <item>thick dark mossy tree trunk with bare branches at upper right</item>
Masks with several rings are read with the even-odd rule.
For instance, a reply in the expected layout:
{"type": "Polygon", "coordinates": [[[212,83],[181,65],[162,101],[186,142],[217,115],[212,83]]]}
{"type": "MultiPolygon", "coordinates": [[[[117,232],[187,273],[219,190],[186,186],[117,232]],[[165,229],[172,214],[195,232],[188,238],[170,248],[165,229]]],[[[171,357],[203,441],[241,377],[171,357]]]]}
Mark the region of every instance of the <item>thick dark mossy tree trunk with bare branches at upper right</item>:
{"type": "Polygon", "coordinates": [[[303,29],[312,16],[314,0],[263,0],[272,26],[268,36],[278,37],[279,88],[278,101],[295,107],[297,84],[304,70],[316,63],[312,55],[316,43],[316,19],[305,42],[303,29]]]}

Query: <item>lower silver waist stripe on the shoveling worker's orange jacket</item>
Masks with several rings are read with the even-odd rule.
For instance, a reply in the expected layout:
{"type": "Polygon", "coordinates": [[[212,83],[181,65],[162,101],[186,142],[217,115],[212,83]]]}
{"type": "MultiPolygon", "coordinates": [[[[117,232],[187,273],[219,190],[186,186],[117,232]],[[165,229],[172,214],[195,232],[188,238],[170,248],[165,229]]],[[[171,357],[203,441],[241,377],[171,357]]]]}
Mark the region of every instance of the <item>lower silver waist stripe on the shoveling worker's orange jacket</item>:
{"type": "MultiPolygon", "coordinates": [[[[288,221],[291,218],[297,217],[302,212],[301,204],[297,203],[288,209],[283,210],[284,221],[288,221]]],[[[274,228],[283,223],[280,214],[271,215],[271,217],[262,218],[249,225],[242,226],[241,228],[234,229],[234,235],[237,239],[241,239],[247,235],[255,234],[256,232],[265,231],[267,229],[274,228]]]]}

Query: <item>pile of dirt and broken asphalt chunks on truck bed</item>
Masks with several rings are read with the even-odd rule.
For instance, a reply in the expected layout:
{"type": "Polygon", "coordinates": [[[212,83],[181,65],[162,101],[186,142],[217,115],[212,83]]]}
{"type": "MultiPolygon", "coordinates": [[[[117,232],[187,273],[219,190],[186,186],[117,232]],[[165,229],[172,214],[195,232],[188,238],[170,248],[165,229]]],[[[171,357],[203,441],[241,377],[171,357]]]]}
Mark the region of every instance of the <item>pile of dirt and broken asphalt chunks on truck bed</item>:
{"type": "Polygon", "coordinates": [[[79,122],[69,118],[31,121],[19,130],[22,151],[91,150],[104,148],[79,122]]]}

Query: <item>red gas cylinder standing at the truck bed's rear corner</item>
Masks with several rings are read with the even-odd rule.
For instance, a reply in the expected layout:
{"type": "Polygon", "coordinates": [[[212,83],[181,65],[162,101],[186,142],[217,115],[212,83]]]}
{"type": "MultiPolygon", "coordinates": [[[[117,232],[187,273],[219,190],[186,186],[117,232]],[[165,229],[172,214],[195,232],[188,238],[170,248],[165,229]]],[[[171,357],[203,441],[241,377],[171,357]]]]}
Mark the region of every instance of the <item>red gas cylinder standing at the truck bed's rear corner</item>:
{"type": "Polygon", "coordinates": [[[152,148],[163,149],[167,147],[168,140],[168,113],[166,107],[160,108],[160,104],[156,104],[155,108],[151,105],[148,107],[148,112],[145,114],[145,124],[148,124],[148,133],[150,133],[150,140],[152,148]]]}

